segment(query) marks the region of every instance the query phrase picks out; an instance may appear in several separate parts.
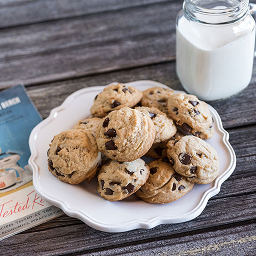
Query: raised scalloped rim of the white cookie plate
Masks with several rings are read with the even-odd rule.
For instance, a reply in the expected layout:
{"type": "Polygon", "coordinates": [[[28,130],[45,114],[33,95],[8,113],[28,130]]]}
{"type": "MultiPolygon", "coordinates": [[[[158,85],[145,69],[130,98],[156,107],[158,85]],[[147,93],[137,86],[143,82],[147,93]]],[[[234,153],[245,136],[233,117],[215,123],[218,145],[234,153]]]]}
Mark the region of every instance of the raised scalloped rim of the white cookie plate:
{"type": "MultiPolygon", "coordinates": [[[[113,83],[116,83],[116,82],[112,82],[111,84],[113,84],[113,83]]],[[[156,81],[152,81],[152,80],[137,80],[137,81],[128,82],[126,84],[130,85],[130,86],[147,84],[152,87],[158,86],[158,87],[170,88],[170,87],[166,86],[165,84],[162,84],[162,83],[159,83],[156,81]]],[[[108,84],[108,85],[110,85],[110,84],[108,84]]],[[[224,143],[225,148],[227,149],[226,152],[229,153],[230,164],[227,167],[227,169],[224,171],[224,173],[222,173],[220,176],[218,176],[214,180],[214,186],[212,186],[210,189],[207,189],[203,193],[201,200],[198,202],[197,206],[195,208],[193,208],[191,211],[183,213],[182,215],[175,216],[175,217],[154,216],[153,218],[150,218],[148,220],[139,218],[139,219],[134,219],[131,221],[124,221],[124,222],[122,222],[122,224],[113,225],[113,224],[107,224],[107,223],[97,221],[97,220],[91,218],[90,216],[88,216],[86,213],[81,212],[80,210],[71,209],[64,201],[61,201],[59,199],[52,197],[51,195],[48,195],[43,190],[43,188],[41,188],[40,183],[38,182],[40,168],[36,164],[38,152],[37,152],[37,149],[36,149],[35,143],[34,143],[36,141],[41,129],[44,128],[48,122],[51,122],[52,119],[55,119],[58,116],[58,112],[63,111],[65,109],[66,105],[68,105],[69,102],[72,102],[77,96],[80,96],[82,93],[87,93],[87,92],[94,91],[94,90],[102,90],[104,87],[106,87],[108,85],[85,87],[85,88],[79,89],[79,90],[71,93],[64,100],[64,102],[62,102],[61,105],[53,108],[50,111],[49,116],[46,119],[42,120],[38,125],[36,125],[32,129],[30,136],[29,136],[29,148],[31,151],[31,156],[29,157],[29,165],[32,167],[32,170],[33,170],[33,185],[34,185],[36,192],[38,192],[38,194],[41,196],[41,198],[43,198],[45,201],[62,209],[63,212],[65,214],[69,215],[70,217],[78,218],[81,221],[83,221],[84,223],[86,223],[87,225],[89,225],[90,227],[93,227],[96,230],[105,231],[105,232],[124,232],[124,231],[128,231],[128,230],[134,230],[137,228],[149,229],[149,228],[155,227],[160,224],[180,223],[180,222],[185,222],[185,221],[189,221],[189,220],[196,218],[204,210],[209,199],[211,197],[213,197],[214,195],[218,194],[218,192],[221,189],[222,183],[225,180],[227,180],[228,177],[230,177],[230,175],[233,173],[234,169],[236,168],[236,154],[235,154],[235,151],[233,150],[231,144],[229,143],[229,134],[223,128],[221,118],[220,118],[218,112],[209,104],[208,104],[208,106],[209,106],[211,113],[215,117],[218,131],[221,132],[221,134],[222,134],[222,142],[224,143]]],[[[170,88],[170,89],[172,89],[172,88],[170,88]]],[[[172,89],[172,90],[174,90],[174,89],[172,89]]],[[[174,90],[174,91],[175,92],[184,92],[181,90],[174,90]]]]}

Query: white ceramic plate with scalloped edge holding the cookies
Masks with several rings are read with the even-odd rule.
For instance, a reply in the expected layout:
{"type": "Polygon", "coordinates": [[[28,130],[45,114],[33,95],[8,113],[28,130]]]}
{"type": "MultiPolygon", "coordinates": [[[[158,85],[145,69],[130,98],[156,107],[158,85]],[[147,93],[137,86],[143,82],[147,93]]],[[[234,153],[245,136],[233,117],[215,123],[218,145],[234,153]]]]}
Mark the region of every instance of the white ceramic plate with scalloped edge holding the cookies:
{"type": "MultiPolygon", "coordinates": [[[[167,87],[155,81],[134,81],[127,85],[145,90],[149,87],[167,87]]],[[[104,87],[89,87],[76,91],[31,132],[29,164],[33,169],[33,183],[44,200],[61,208],[67,215],[79,218],[90,227],[107,232],[122,232],[136,228],[152,228],[159,224],[189,221],[197,217],[207,201],[216,195],[221,184],[232,174],[236,155],[228,142],[229,134],[221,124],[214,108],[209,106],[214,119],[215,134],[207,140],[218,152],[220,170],[214,182],[195,184],[193,189],[169,204],[148,204],[136,195],[119,202],[109,202],[98,195],[96,178],[92,183],[70,185],[54,177],[47,167],[47,150],[52,137],[72,128],[79,120],[90,116],[93,99],[104,87]]]]}

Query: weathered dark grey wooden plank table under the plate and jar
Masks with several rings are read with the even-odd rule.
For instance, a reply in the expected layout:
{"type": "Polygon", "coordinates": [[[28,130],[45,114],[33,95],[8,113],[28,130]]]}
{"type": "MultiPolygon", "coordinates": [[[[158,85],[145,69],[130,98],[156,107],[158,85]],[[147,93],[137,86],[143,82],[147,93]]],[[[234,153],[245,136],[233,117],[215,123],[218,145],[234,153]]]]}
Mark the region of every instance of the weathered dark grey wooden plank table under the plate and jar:
{"type": "MultiPolygon", "coordinates": [[[[175,73],[180,0],[1,0],[0,88],[23,82],[46,118],[74,91],[175,73]]],[[[0,255],[256,255],[256,64],[250,85],[210,102],[237,157],[192,221],[105,233],[63,215],[0,242],[0,255]]]]}

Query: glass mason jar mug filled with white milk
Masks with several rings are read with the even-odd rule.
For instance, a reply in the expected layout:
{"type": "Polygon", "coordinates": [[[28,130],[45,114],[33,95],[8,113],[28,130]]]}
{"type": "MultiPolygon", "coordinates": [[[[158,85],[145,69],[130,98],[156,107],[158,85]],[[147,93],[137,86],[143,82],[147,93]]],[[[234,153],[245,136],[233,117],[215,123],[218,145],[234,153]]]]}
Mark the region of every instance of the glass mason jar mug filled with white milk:
{"type": "Polygon", "coordinates": [[[176,70],[202,100],[227,98],[250,83],[255,5],[249,0],[184,0],[176,20],[176,70]]]}

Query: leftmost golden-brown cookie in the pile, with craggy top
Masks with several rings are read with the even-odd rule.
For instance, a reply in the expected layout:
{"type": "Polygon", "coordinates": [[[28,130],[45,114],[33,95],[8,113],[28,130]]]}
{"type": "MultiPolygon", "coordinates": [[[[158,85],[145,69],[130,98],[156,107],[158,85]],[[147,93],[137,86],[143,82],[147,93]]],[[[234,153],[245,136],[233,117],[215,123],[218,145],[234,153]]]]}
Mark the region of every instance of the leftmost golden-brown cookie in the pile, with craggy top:
{"type": "Polygon", "coordinates": [[[101,160],[94,137],[82,130],[67,130],[55,135],[47,155],[49,171],[70,184],[90,181],[101,160]]]}

